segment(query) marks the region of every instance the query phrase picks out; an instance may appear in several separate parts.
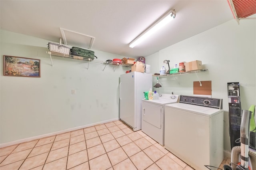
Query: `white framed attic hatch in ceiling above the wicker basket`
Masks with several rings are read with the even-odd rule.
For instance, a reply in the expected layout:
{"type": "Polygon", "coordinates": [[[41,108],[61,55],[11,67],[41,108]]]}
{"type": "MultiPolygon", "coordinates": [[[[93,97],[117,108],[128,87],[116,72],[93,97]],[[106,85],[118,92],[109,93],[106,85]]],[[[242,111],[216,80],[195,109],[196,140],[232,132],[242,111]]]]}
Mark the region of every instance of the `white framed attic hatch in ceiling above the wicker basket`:
{"type": "Polygon", "coordinates": [[[60,33],[65,45],[75,47],[91,49],[95,39],[95,37],[81,34],[79,32],[74,32],[71,30],[66,30],[64,28],[60,28],[60,33]]]}

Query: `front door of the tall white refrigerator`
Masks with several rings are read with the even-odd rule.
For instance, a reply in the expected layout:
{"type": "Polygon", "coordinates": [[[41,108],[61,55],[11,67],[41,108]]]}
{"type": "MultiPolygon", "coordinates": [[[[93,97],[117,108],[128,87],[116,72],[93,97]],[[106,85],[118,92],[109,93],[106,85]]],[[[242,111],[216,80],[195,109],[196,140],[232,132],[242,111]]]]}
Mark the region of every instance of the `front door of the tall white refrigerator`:
{"type": "Polygon", "coordinates": [[[135,72],[126,73],[120,76],[120,119],[136,128],[135,119],[135,72]]]}

